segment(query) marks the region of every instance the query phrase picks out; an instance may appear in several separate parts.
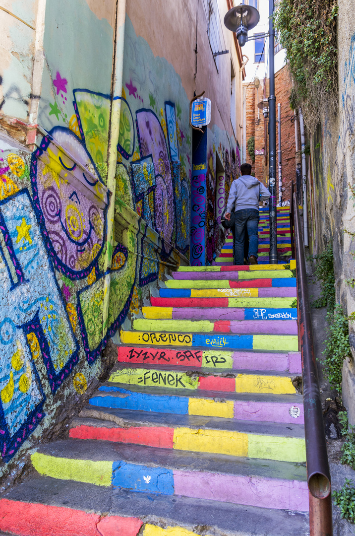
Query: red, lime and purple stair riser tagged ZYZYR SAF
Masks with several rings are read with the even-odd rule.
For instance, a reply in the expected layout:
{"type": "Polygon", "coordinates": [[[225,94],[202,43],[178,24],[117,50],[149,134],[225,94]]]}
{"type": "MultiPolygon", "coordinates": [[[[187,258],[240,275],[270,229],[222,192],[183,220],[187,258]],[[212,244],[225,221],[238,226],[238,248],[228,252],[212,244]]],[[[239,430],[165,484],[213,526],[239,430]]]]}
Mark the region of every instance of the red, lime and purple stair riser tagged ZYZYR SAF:
{"type": "Polygon", "coordinates": [[[183,367],[210,367],[241,370],[273,370],[301,373],[299,352],[288,354],[223,352],[195,349],[118,347],[118,362],[132,364],[170,364],[183,367]]]}

